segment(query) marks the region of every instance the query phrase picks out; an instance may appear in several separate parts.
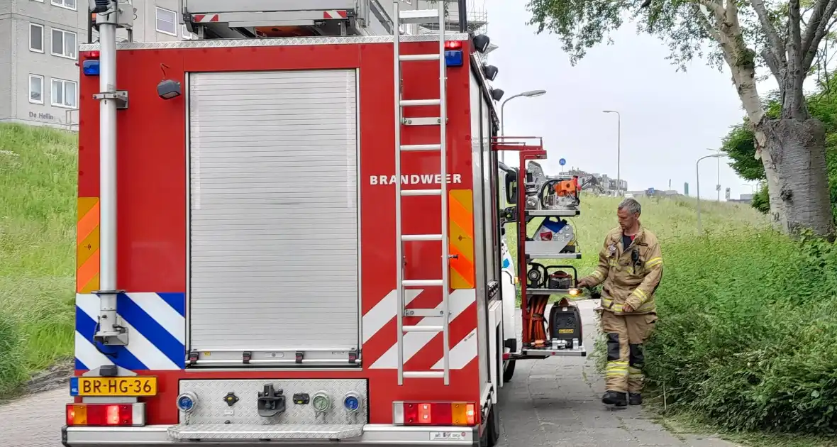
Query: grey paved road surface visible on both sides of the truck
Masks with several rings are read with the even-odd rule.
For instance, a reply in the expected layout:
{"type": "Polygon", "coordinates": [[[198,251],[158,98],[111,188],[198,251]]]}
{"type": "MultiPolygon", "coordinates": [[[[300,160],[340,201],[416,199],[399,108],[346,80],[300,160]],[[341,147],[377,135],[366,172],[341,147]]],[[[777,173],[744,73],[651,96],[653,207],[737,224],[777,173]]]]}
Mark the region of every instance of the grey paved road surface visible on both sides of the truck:
{"type": "MultiPolygon", "coordinates": [[[[593,302],[580,303],[588,349],[596,334],[593,302]]],[[[727,447],[718,439],[678,439],[645,419],[640,408],[611,410],[599,399],[603,381],[593,361],[553,357],[518,362],[515,377],[501,389],[501,447],[727,447]]],[[[60,447],[67,389],[60,388],[0,406],[0,445],[60,447]],[[10,444],[6,444],[10,443],[10,444]]]]}

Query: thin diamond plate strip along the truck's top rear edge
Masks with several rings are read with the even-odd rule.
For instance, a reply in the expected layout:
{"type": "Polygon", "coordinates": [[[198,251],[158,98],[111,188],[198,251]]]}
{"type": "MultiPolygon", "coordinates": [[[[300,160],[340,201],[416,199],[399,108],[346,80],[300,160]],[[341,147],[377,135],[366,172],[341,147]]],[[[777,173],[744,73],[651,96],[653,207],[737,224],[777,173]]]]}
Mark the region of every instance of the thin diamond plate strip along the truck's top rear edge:
{"type": "MultiPolygon", "coordinates": [[[[466,40],[468,34],[445,34],[445,40],[466,40]]],[[[434,42],[439,34],[408,34],[401,36],[401,42],[434,42]]],[[[319,38],[282,38],[282,39],[218,39],[218,40],[178,40],[173,42],[122,42],[116,49],[188,49],[188,48],[231,48],[231,47],[286,47],[292,45],[336,45],[336,44],[387,44],[393,36],[342,36],[319,38]]],[[[100,44],[80,44],[79,51],[95,51],[100,44]]]]}

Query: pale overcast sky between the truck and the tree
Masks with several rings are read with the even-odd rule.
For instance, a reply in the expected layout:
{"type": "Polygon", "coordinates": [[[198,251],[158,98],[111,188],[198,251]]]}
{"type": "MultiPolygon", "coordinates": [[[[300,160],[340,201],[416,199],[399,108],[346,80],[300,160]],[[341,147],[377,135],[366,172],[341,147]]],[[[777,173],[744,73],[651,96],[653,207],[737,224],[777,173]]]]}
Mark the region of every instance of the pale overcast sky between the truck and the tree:
{"type": "MultiPolygon", "coordinates": [[[[616,177],[617,117],[622,116],[621,177],[629,190],[671,188],[695,195],[695,162],[721,146],[729,127],[741,122],[743,110],[728,71],[696,60],[686,73],[675,71],[665,57],[665,44],[637,34],[633,23],[615,33],[613,45],[588,51],[575,67],[557,36],[526,26],[526,0],[472,0],[488,13],[487,34],[498,49],[490,64],[500,69],[494,81],[506,98],[525,90],[547,90],[537,98],[516,98],[505,108],[507,136],[543,136],[547,174],[567,166],[616,177]]],[[[768,85],[760,85],[767,93],[768,85]]],[[[701,197],[716,198],[717,164],[701,162],[701,197]]],[[[732,198],[752,188],[721,159],[724,188],[732,198]]]]}

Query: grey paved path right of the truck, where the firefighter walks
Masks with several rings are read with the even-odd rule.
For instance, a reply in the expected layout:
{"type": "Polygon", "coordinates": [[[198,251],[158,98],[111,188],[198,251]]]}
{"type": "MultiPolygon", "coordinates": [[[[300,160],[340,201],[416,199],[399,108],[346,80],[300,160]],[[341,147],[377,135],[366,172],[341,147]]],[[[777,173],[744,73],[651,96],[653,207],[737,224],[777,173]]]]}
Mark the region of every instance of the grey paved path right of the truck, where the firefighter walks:
{"type": "MultiPolygon", "coordinates": [[[[596,302],[578,301],[578,306],[589,354],[598,335],[596,302]]],[[[604,405],[603,393],[604,380],[591,357],[518,361],[514,378],[501,388],[501,446],[735,445],[692,435],[679,439],[648,419],[641,408],[604,405]]]]}

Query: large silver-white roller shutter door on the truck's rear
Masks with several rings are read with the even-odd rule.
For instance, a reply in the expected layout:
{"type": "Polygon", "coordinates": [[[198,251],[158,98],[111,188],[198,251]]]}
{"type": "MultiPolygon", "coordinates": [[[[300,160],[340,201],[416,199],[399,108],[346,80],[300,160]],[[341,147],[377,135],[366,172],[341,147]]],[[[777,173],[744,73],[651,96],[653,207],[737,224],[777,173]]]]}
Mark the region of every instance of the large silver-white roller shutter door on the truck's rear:
{"type": "Polygon", "coordinates": [[[191,348],[357,348],[355,70],[188,90],[191,348]]]}

